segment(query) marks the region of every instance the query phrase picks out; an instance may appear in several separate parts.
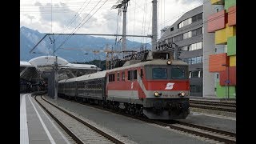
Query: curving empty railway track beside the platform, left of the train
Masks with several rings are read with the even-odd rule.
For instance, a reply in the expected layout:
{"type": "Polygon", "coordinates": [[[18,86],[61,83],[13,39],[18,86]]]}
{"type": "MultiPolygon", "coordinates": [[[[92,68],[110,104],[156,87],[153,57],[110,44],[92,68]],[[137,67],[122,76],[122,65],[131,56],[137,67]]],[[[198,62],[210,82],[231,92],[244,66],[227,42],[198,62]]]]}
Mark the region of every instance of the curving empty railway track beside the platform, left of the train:
{"type": "Polygon", "coordinates": [[[112,137],[110,134],[106,134],[104,131],[99,130],[95,126],[90,125],[88,122],[83,121],[74,114],[70,114],[68,111],[62,109],[59,106],[54,105],[52,102],[38,96],[34,96],[34,99],[67,134],[70,135],[77,143],[116,143],[124,144],[117,138],[112,137]],[[47,107],[47,108],[46,108],[47,107]]]}

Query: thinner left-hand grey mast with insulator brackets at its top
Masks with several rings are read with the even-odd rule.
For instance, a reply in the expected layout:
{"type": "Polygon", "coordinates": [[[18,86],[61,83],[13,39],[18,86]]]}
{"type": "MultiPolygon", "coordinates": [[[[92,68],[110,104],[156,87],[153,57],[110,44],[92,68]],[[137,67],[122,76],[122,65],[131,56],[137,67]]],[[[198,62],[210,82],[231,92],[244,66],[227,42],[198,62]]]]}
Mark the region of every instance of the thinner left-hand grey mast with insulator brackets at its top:
{"type": "Polygon", "coordinates": [[[127,5],[128,3],[125,3],[122,12],[123,12],[123,18],[122,18],[122,50],[126,50],[126,12],[127,12],[127,5]]]}

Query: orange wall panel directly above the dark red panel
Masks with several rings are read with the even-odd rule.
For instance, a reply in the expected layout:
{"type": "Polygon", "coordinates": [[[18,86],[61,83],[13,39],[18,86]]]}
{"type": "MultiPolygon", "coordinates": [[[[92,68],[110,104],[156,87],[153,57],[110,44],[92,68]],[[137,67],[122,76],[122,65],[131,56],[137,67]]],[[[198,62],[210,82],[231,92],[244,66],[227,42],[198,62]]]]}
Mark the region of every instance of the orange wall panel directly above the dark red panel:
{"type": "Polygon", "coordinates": [[[209,71],[225,71],[226,66],[222,65],[228,65],[229,61],[229,57],[227,57],[226,53],[209,55],[209,71]]]}

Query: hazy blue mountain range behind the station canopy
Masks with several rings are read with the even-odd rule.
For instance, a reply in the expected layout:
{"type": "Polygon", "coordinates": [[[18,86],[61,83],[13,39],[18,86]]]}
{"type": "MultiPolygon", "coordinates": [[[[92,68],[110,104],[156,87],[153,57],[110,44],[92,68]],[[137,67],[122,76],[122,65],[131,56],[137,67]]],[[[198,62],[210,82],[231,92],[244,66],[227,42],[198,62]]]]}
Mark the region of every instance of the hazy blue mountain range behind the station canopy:
{"type": "MultiPolygon", "coordinates": [[[[30,54],[30,50],[44,37],[44,33],[38,32],[38,30],[31,30],[22,26],[20,28],[20,60],[29,61],[31,58],[35,58],[42,55],[52,55],[53,44],[50,42],[50,38],[47,36],[40,42],[40,44],[33,50],[34,54],[30,54]]],[[[54,36],[55,47],[61,45],[68,35],[66,36],[54,36]]],[[[78,36],[73,35],[70,39],[63,44],[59,50],[55,53],[59,57],[66,59],[69,62],[89,62],[94,59],[104,60],[106,58],[105,53],[93,54],[93,50],[104,50],[106,45],[109,45],[110,49],[113,46],[114,50],[122,49],[122,42],[118,42],[119,46],[115,45],[115,39],[98,38],[93,36],[78,36]],[[119,48],[117,48],[119,47],[119,48]],[[83,48],[89,49],[89,51],[82,51],[83,48]]],[[[140,42],[131,42],[127,40],[127,50],[139,50],[141,47],[140,42]],[[132,49],[131,49],[132,48],[132,49]]],[[[146,49],[151,49],[150,44],[146,44],[146,49]]]]}

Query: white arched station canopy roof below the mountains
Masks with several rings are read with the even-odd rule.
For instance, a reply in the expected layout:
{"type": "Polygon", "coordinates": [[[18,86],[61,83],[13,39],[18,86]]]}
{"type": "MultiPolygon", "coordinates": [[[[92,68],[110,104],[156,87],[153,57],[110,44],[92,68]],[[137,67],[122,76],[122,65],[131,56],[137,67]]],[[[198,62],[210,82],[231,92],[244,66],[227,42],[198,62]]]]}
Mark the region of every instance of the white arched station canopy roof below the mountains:
{"type": "MultiPolygon", "coordinates": [[[[40,56],[30,59],[29,62],[20,61],[20,78],[31,81],[37,78],[46,78],[55,67],[56,56],[40,56]]],[[[62,78],[74,78],[83,74],[90,74],[101,70],[95,65],[75,64],[57,57],[58,75],[62,78]]],[[[59,79],[62,79],[59,78],[59,79]]]]}

